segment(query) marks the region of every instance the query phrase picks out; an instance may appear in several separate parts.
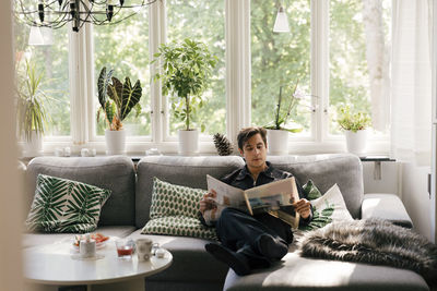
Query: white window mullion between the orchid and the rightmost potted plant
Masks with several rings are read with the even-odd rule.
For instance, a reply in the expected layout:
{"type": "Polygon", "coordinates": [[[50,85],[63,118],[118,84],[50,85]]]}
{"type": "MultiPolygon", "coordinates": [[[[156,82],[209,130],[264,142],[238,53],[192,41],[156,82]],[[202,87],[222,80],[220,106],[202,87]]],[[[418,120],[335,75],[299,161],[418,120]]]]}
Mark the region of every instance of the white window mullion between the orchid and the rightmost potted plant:
{"type": "Polygon", "coordinates": [[[321,143],[328,133],[329,107],[329,1],[311,0],[312,136],[321,143]]]}

